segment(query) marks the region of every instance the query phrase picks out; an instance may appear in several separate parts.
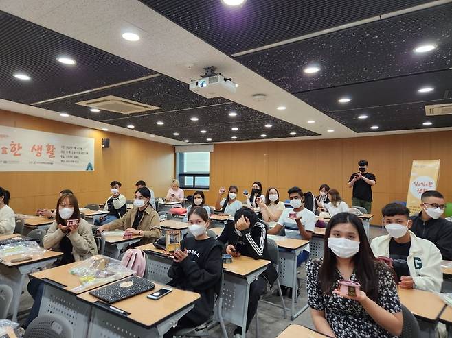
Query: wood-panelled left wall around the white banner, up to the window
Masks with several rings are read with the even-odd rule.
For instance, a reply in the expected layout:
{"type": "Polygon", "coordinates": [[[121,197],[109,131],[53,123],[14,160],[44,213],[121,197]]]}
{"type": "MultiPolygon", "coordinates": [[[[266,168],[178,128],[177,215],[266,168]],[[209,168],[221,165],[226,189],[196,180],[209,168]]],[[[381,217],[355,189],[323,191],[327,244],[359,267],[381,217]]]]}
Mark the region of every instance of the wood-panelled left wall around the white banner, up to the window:
{"type": "Polygon", "coordinates": [[[133,198],[137,180],[145,180],[157,195],[166,195],[174,176],[172,145],[1,110],[0,124],[95,138],[95,171],[1,172],[0,186],[11,192],[10,206],[16,213],[54,207],[62,189],[74,191],[83,206],[105,202],[112,180],[122,182],[128,199],[133,198]],[[110,138],[110,148],[102,149],[102,138],[110,138]]]}

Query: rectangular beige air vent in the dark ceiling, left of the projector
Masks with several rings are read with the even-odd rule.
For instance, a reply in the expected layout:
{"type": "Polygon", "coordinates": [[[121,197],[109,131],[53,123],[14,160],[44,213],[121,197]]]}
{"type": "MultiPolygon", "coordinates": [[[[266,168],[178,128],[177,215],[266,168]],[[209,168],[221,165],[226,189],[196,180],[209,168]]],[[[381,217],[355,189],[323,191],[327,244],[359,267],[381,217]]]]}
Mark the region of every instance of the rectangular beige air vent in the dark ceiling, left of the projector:
{"type": "Polygon", "coordinates": [[[90,108],[98,108],[100,110],[108,110],[109,112],[119,112],[120,114],[133,114],[135,112],[161,109],[161,107],[150,106],[148,104],[142,104],[113,95],[98,97],[97,99],[88,101],[80,101],[76,104],[90,108]]]}

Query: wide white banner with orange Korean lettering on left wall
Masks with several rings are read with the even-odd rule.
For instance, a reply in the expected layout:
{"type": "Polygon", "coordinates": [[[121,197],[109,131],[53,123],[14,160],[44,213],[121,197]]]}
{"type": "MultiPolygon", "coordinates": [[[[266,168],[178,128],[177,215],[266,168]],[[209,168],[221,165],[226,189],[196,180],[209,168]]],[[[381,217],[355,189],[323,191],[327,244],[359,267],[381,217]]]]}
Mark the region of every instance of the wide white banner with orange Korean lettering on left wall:
{"type": "Polygon", "coordinates": [[[93,171],[94,138],[0,125],[0,171],[93,171]]]}

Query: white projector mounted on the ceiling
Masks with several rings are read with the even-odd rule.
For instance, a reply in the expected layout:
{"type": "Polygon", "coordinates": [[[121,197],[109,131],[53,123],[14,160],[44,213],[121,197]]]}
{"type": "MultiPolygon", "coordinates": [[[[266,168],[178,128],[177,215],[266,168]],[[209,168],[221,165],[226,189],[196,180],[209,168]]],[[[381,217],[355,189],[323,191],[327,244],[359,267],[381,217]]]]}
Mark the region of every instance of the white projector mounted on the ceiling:
{"type": "Polygon", "coordinates": [[[236,84],[221,74],[215,73],[215,67],[205,68],[205,75],[199,80],[190,82],[190,90],[207,99],[224,97],[230,93],[236,93],[236,84]]]}

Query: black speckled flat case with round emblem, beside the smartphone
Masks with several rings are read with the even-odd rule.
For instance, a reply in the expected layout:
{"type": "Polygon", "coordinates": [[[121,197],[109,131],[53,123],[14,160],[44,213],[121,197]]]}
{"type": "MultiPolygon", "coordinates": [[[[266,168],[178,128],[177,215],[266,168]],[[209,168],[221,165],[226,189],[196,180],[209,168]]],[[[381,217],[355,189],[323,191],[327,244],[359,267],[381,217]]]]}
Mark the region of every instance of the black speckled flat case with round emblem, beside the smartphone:
{"type": "Polygon", "coordinates": [[[112,304],[133,297],[134,295],[139,295],[139,293],[153,290],[154,288],[155,284],[150,280],[132,276],[111,285],[107,285],[106,287],[90,291],[89,294],[106,303],[112,304]]]}

